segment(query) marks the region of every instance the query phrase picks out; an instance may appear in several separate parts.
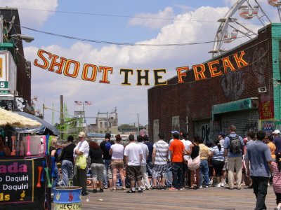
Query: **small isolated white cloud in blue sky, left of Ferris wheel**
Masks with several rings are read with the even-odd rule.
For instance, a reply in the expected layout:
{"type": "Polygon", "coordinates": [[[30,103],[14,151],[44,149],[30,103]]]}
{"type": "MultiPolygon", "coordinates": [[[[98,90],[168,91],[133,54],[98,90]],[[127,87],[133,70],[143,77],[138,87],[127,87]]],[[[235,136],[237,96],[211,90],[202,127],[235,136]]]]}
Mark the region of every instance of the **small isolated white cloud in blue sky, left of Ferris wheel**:
{"type": "Polygon", "coordinates": [[[140,13],[135,15],[136,18],[132,18],[129,22],[130,25],[143,25],[152,29],[159,29],[164,25],[173,22],[175,17],[174,10],[171,7],[166,7],[163,11],[159,10],[159,13],[140,13]],[[138,18],[140,17],[140,18],[138,18]],[[159,19],[158,19],[159,18],[159,19]],[[168,19],[168,20],[167,20],[168,19]],[[169,20],[171,19],[171,20],[169,20]]]}

